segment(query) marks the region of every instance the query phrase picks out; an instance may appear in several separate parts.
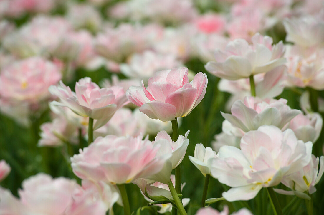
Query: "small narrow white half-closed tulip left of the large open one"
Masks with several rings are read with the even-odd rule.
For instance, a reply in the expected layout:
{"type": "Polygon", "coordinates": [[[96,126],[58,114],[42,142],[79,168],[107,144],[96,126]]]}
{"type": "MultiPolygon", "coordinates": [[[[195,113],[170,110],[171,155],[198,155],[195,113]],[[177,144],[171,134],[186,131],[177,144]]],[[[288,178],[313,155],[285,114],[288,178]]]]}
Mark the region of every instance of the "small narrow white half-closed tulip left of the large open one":
{"type": "Polygon", "coordinates": [[[216,152],[213,151],[211,147],[204,147],[203,144],[196,144],[195,151],[193,152],[193,157],[189,156],[189,160],[201,173],[203,176],[210,175],[210,168],[212,159],[217,157],[216,152]]]}

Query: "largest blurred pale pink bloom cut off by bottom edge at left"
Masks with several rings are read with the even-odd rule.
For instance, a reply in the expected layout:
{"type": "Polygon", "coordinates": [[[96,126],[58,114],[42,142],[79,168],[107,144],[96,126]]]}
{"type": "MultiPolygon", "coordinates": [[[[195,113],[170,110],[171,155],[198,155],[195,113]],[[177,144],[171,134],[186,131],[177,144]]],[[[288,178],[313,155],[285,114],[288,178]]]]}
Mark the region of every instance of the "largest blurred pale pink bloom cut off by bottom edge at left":
{"type": "Polygon", "coordinates": [[[38,173],[22,182],[18,194],[29,214],[60,215],[72,203],[72,193],[77,186],[74,180],[63,177],[53,179],[38,173]]]}

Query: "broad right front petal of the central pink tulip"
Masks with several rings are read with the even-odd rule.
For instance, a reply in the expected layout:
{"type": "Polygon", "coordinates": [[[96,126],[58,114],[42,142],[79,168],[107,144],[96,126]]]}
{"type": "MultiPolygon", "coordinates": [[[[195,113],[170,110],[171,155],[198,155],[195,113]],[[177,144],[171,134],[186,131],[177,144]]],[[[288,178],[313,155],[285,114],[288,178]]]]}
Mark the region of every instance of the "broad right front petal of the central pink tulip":
{"type": "Polygon", "coordinates": [[[193,87],[185,90],[179,89],[169,94],[165,102],[176,107],[176,117],[185,117],[192,111],[196,93],[197,89],[193,87]]]}

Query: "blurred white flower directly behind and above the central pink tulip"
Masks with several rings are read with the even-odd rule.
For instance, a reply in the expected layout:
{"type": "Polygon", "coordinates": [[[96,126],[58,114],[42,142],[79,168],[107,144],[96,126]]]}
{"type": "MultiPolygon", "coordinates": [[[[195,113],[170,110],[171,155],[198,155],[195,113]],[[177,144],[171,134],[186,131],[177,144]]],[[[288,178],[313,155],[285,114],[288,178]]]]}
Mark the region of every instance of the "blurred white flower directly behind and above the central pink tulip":
{"type": "Polygon", "coordinates": [[[146,82],[157,71],[182,66],[182,63],[172,54],[159,54],[154,51],[135,53],[120,65],[121,73],[129,78],[144,79],[146,82]]]}

